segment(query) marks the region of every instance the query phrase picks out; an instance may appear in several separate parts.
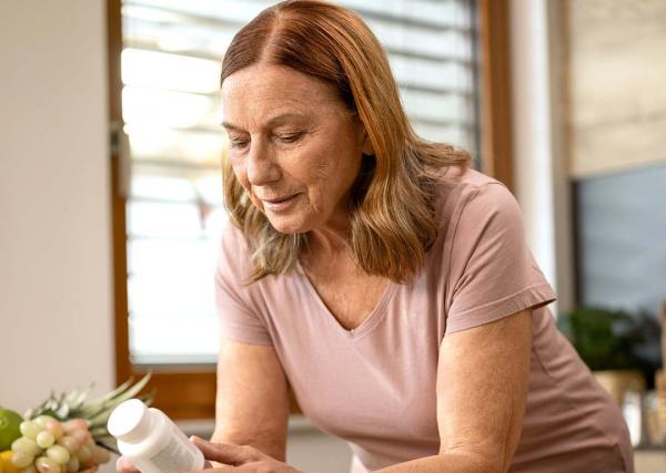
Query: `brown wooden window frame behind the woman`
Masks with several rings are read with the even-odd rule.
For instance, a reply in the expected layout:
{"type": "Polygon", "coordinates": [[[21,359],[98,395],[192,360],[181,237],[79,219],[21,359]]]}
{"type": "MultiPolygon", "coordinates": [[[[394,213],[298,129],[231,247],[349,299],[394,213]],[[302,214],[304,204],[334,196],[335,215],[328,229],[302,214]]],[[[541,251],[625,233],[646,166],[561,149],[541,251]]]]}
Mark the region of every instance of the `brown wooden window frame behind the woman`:
{"type": "MultiPolygon", "coordinates": [[[[481,164],[490,174],[513,188],[508,0],[477,0],[477,51],[480,71],[481,164]]],[[[122,51],[121,0],[107,0],[109,120],[122,123],[120,52],[122,51]]],[[[127,290],[127,198],[122,186],[122,163],[111,151],[111,205],[113,258],[113,313],[115,339],[115,383],[137,379],[145,370],[130,361],[127,290]]],[[[154,405],[172,419],[213,419],[216,377],[214,367],[167,367],[153,370],[147,390],[155,390],[154,405]]],[[[300,413],[290,393],[292,413],[300,413]]]]}

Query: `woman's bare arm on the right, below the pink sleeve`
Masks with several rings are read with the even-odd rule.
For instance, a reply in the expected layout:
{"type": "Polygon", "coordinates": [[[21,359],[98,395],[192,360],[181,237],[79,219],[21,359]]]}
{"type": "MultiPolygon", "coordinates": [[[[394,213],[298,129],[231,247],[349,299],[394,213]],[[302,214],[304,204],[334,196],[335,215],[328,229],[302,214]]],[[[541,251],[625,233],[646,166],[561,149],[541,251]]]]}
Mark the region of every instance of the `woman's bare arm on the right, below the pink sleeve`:
{"type": "Polygon", "coordinates": [[[532,309],[448,335],[437,369],[440,454],[381,473],[504,473],[517,448],[532,351],[532,309]]]}

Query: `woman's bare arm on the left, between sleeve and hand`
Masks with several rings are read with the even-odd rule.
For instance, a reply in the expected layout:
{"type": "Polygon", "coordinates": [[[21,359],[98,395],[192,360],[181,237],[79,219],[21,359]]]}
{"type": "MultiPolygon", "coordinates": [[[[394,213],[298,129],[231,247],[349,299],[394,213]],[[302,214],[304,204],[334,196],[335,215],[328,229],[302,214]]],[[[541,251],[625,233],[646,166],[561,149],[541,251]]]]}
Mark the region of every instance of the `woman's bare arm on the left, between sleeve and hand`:
{"type": "Polygon", "coordinates": [[[284,461],[287,419],[286,378],[273,347],[224,340],[211,440],[251,445],[284,461]]]}

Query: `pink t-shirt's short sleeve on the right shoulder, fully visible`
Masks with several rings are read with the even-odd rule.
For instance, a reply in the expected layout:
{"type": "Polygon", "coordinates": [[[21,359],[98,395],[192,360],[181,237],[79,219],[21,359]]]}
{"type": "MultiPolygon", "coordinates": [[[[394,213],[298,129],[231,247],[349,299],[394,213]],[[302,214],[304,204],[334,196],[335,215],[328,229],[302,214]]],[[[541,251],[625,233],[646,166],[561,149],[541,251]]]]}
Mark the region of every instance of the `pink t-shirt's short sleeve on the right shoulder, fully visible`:
{"type": "Polygon", "coordinates": [[[451,245],[446,333],[555,300],[529,251],[518,203],[500,182],[473,187],[451,245]]]}

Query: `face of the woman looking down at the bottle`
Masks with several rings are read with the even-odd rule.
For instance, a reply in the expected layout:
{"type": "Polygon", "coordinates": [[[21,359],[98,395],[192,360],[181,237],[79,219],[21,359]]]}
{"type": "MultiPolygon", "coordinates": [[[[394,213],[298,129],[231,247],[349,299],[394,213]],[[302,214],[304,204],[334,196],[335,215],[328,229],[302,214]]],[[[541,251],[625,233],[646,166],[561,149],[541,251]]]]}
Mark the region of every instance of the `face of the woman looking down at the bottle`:
{"type": "Polygon", "coordinates": [[[254,64],[222,85],[233,172],[282,233],[347,222],[364,130],[330,84],[292,69],[254,64]]]}

